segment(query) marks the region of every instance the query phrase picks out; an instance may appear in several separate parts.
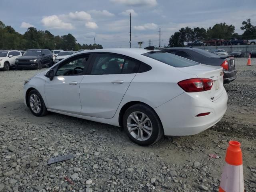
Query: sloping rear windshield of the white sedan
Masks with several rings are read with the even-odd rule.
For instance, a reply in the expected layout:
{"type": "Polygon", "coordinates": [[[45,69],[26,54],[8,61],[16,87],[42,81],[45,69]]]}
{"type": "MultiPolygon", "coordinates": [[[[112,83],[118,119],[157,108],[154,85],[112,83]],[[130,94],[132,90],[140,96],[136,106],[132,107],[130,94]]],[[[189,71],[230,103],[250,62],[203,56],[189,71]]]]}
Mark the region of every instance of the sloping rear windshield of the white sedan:
{"type": "Polygon", "coordinates": [[[197,62],[194,62],[192,60],[162,51],[151,51],[144,53],[142,55],[163,62],[173,67],[189,67],[198,65],[197,62]]]}

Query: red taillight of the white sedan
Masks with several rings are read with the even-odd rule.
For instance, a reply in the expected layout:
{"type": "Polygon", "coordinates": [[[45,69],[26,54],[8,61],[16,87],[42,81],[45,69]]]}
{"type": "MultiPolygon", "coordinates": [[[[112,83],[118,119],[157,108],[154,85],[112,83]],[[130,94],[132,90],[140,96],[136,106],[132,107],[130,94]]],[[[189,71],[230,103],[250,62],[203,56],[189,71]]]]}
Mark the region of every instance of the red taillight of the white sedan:
{"type": "Polygon", "coordinates": [[[178,82],[186,92],[201,92],[212,88],[213,80],[207,78],[192,78],[178,82]]]}

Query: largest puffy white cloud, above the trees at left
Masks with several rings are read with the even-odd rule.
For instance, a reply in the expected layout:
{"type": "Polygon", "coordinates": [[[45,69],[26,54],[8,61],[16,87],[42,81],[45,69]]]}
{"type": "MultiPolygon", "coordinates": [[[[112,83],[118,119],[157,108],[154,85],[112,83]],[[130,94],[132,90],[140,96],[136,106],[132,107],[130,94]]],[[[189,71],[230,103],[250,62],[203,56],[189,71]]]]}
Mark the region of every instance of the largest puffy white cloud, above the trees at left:
{"type": "Polygon", "coordinates": [[[44,26],[48,28],[53,29],[73,29],[74,26],[72,26],[71,23],[63,22],[58,16],[51,15],[51,16],[45,16],[42,18],[41,22],[44,26]]]}

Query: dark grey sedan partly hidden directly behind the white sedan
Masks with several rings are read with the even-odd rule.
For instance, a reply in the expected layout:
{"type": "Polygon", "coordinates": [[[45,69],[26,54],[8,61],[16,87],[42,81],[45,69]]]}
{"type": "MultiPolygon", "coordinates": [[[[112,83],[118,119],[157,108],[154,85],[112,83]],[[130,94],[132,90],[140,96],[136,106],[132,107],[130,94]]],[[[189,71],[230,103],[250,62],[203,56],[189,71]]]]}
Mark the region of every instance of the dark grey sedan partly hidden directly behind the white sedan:
{"type": "Polygon", "coordinates": [[[206,65],[222,66],[224,83],[230,83],[236,79],[235,60],[233,56],[218,56],[198,48],[168,48],[164,51],[202,63],[206,65]]]}

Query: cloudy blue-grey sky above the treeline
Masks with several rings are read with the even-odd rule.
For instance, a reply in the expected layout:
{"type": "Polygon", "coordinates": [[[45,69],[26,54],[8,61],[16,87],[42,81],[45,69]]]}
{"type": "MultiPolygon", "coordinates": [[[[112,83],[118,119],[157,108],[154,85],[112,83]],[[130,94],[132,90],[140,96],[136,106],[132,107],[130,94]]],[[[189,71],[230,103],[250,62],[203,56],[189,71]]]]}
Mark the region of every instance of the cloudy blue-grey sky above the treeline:
{"type": "Polygon", "coordinates": [[[72,34],[80,44],[104,48],[168,45],[182,27],[209,28],[226,22],[242,34],[242,22],[256,25],[256,0],[0,0],[0,20],[24,34],[33,26],[54,35],[72,34]]]}

